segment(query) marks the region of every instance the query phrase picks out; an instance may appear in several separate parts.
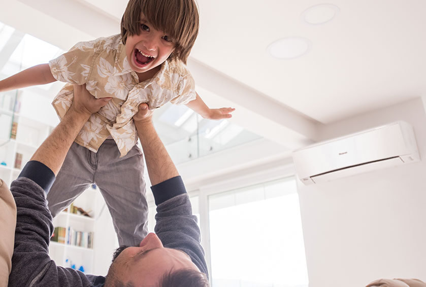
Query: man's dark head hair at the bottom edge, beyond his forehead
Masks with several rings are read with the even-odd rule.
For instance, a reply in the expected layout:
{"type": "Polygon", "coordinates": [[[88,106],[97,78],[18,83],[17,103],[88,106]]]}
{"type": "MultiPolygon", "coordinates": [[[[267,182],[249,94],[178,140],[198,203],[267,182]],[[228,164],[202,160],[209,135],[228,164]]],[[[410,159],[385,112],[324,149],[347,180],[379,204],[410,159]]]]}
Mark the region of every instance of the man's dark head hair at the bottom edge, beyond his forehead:
{"type": "Polygon", "coordinates": [[[193,269],[179,269],[166,273],[159,287],[210,287],[206,274],[193,269]]]}

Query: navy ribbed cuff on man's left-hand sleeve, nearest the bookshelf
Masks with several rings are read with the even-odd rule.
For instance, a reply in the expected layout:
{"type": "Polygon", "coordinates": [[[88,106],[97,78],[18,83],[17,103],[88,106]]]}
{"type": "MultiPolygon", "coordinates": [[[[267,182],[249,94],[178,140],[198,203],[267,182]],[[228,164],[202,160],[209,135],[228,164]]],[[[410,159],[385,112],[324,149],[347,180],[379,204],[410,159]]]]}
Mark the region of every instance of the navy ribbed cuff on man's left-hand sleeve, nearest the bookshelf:
{"type": "Polygon", "coordinates": [[[19,177],[29,178],[31,181],[38,184],[46,193],[49,192],[55,181],[55,174],[53,171],[43,163],[35,160],[28,161],[25,164],[18,178],[19,177]]]}

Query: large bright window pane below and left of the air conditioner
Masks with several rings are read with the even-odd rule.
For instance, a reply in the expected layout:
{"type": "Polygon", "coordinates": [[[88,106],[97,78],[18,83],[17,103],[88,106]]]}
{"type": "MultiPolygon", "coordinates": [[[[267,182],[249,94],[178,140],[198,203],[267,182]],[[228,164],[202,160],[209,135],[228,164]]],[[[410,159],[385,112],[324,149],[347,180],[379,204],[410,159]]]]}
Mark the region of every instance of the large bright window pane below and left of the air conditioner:
{"type": "Polygon", "coordinates": [[[213,287],[308,286],[294,178],[209,197],[213,287]]]}

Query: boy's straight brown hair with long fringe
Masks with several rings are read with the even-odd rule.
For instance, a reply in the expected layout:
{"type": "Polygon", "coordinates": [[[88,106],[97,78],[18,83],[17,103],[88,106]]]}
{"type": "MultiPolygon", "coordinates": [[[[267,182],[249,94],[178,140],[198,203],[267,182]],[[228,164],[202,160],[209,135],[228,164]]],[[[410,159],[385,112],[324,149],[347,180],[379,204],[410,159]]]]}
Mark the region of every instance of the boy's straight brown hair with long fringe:
{"type": "Polygon", "coordinates": [[[129,0],[121,18],[121,37],[140,33],[141,14],[154,29],[165,32],[175,44],[170,56],[186,64],[198,35],[199,14],[195,0],[129,0]]]}

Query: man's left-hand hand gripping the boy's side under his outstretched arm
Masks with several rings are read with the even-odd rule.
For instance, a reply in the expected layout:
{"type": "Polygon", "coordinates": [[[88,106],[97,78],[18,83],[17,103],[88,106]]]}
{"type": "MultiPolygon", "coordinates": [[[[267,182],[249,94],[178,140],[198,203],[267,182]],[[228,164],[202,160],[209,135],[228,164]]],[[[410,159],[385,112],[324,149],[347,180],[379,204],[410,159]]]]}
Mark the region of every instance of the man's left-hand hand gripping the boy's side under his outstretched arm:
{"type": "Polygon", "coordinates": [[[71,108],[79,113],[91,115],[101,110],[112,98],[96,99],[86,90],[86,84],[74,85],[74,99],[71,108]]]}

